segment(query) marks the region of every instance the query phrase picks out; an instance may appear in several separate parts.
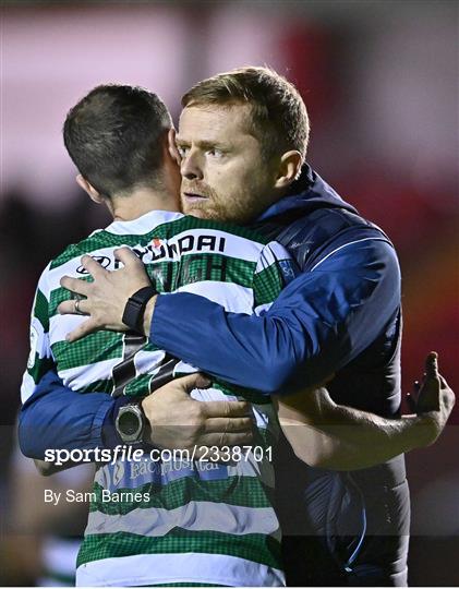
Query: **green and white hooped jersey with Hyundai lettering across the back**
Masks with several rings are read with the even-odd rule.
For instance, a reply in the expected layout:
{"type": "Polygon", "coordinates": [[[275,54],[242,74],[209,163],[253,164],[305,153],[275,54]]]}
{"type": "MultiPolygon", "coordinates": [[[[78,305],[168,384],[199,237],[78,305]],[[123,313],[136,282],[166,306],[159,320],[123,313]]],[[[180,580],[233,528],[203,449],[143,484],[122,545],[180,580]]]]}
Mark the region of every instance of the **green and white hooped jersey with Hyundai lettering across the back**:
{"type": "MultiPolygon", "coordinates": [[[[265,312],[286,276],[293,276],[281,245],[242,228],[157,211],[133,221],[114,221],[67,248],[43,273],[32,314],[23,402],[52,366],[67,386],[82,394],[116,388],[126,335],[98,332],[69,344],[65,335],[85,317],[59,315],[57,306],[69,297],[59,284],[63,275],[90,279],[81,265],[83,254],[112,271],[113,250],[122,245],[146,264],[159,292],[201,294],[231,312],[265,312]]],[[[164,350],[144,344],[123,394],[147,394],[166,360],[164,350]]],[[[176,374],[194,370],[180,362],[176,374]]],[[[279,425],[270,399],[217,381],[192,395],[198,400],[249,400],[258,456],[246,453],[240,460],[215,464],[158,461],[146,453],[140,462],[100,466],[77,561],[77,585],[285,584],[269,450],[279,425]],[[134,494],[138,501],[131,501],[134,494]],[[120,498],[112,501],[116,497],[120,498]]]]}

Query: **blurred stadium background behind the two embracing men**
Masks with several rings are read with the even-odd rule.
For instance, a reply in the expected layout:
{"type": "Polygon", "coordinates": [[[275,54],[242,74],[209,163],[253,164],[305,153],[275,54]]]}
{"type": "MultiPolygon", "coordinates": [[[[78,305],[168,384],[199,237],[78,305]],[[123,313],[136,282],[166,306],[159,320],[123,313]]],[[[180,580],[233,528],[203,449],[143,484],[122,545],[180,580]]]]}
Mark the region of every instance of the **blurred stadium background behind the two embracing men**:
{"type": "MultiPolygon", "coordinates": [[[[3,555],[14,533],[12,424],[35,285],[64,245],[109,223],[77,190],[61,140],[67,110],[96,84],[147,86],[177,120],[181,94],[207,75],[249,63],[286,74],[312,119],[309,161],[397,247],[404,390],[431,349],[459,390],[457,2],[7,2],[1,10],[3,555]]],[[[459,584],[458,422],[456,408],[443,438],[408,457],[411,585],[459,584]]],[[[12,566],[0,560],[0,582],[11,582],[12,566]]]]}

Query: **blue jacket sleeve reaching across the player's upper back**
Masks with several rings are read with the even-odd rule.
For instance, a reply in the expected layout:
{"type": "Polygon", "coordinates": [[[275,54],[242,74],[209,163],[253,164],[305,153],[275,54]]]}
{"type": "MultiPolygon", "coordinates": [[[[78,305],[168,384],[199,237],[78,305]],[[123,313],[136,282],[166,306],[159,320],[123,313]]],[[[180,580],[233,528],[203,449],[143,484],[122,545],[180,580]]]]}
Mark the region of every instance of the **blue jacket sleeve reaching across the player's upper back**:
{"type": "Polygon", "coordinates": [[[227,313],[189,293],[159,296],[150,339],[229,383],[265,394],[291,392],[323,382],[357,358],[399,304],[394,248],[361,240],[302,272],[261,316],[227,313]]]}

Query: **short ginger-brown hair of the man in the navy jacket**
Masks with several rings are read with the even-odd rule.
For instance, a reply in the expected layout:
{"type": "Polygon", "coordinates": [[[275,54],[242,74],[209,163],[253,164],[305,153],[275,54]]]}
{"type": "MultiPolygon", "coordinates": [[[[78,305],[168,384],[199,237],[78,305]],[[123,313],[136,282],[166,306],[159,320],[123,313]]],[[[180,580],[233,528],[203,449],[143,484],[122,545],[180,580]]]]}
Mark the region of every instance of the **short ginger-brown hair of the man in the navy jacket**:
{"type": "Polygon", "coordinates": [[[267,156],[298,149],[304,160],[310,135],[306,107],[298,89],[269,68],[240,68],[195,84],[182,106],[249,104],[252,125],[267,156]]]}

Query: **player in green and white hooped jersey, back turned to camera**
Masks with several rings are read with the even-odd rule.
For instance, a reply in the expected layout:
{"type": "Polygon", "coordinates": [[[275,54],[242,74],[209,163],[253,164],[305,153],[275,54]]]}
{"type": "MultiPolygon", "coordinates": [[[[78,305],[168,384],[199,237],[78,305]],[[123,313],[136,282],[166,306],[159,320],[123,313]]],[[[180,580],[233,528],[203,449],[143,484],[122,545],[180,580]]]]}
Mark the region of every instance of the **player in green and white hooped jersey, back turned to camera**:
{"type": "MultiPolygon", "coordinates": [[[[140,337],[134,316],[126,320],[132,323],[126,334],[104,330],[69,342],[67,333],[84,317],[58,313],[68,294],[62,276],[87,284],[81,256],[114,269],[121,245],[146,264],[154,291],[193,292],[230,312],[266,311],[286,277],[294,276],[290,255],[269,238],[177,212],[180,176],[168,149],[171,125],[156,95],[131,86],[96,87],[69,112],[64,141],[82,172],[78,183],[107,205],[113,223],[69,245],[41,274],[22,396],[33,395],[39,375],[53,366],[82,397],[105,392],[119,398],[116,435],[138,446],[135,460],[118,457],[117,450],[109,464],[95,458],[78,586],[281,586],[271,464],[278,419],[271,399],[213,380],[205,389],[193,389],[192,397],[196,405],[226,402],[238,410],[228,432],[231,447],[218,456],[210,448],[207,461],[195,461],[194,453],[159,454],[145,428],[145,396],[166,374],[169,380],[196,369],[140,337]],[[251,440],[253,452],[246,446],[243,454],[240,446],[251,440]]],[[[152,290],[147,287],[146,293],[152,290]]],[[[73,302],[78,310],[82,301],[73,302]]],[[[200,386],[198,377],[190,384],[200,386]]],[[[73,498],[68,490],[62,501],[73,498]]]]}

